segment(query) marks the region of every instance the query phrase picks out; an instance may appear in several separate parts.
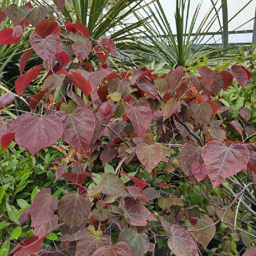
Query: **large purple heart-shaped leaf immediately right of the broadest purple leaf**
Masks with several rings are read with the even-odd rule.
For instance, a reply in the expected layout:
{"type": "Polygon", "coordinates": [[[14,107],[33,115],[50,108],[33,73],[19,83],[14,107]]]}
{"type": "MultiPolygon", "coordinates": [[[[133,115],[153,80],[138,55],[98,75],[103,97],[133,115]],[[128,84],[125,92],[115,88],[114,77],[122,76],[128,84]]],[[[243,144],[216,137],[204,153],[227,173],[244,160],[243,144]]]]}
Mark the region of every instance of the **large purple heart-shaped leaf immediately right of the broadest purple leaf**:
{"type": "Polygon", "coordinates": [[[77,108],[73,113],[61,117],[64,132],[62,138],[84,157],[92,140],[95,117],[85,108],[77,108]]]}

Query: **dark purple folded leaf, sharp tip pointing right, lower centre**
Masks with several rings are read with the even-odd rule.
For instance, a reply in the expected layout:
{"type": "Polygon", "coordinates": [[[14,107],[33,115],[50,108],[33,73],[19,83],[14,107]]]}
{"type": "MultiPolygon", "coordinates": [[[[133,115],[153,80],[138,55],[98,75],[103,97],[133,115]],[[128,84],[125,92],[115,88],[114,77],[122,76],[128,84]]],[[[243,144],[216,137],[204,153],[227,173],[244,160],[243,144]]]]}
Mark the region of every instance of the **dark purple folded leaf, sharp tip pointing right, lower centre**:
{"type": "Polygon", "coordinates": [[[147,220],[158,221],[153,213],[132,197],[126,196],[124,202],[124,218],[129,224],[146,226],[147,220]]]}

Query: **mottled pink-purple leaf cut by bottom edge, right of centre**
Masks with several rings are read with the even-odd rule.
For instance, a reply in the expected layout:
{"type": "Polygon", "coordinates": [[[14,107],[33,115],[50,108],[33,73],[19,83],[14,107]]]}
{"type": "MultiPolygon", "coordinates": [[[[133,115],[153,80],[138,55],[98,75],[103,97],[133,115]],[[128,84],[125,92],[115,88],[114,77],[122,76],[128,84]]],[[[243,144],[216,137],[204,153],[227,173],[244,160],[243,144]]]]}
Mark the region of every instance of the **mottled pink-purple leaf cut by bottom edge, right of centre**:
{"type": "Polygon", "coordinates": [[[178,225],[172,225],[171,234],[168,246],[175,255],[199,256],[196,244],[188,230],[178,225]]]}

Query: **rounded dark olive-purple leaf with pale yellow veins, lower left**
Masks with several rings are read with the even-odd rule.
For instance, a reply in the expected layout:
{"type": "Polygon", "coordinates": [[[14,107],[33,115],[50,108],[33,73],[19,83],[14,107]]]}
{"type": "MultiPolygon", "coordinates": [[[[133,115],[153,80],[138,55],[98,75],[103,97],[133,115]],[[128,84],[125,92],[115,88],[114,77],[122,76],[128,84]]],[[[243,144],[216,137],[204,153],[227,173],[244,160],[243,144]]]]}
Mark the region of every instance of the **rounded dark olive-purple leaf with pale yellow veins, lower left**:
{"type": "Polygon", "coordinates": [[[92,204],[90,201],[85,200],[84,196],[79,196],[75,191],[69,191],[59,201],[58,213],[60,219],[71,227],[79,227],[91,211],[92,204]]]}

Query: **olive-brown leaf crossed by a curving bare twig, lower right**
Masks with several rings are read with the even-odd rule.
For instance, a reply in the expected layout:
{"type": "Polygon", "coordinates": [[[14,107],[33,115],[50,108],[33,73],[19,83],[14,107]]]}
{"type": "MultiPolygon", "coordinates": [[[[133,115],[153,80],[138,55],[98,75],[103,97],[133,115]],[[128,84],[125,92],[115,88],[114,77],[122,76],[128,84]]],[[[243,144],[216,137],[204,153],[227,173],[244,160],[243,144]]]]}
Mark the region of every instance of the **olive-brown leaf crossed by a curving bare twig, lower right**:
{"type": "MultiPolygon", "coordinates": [[[[213,224],[213,221],[209,218],[209,216],[205,215],[202,218],[197,219],[197,223],[193,225],[193,228],[200,229],[205,228],[207,226],[210,226],[213,224]]],[[[193,229],[189,228],[190,234],[198,241],[200,244],[204,246],[204,248],[207,247],[207,245],[212,240],[213,236],[216,232],[216,227],[212,226],[210,228],[206,228],[202,231],[193,232],[193,229]]]]}

